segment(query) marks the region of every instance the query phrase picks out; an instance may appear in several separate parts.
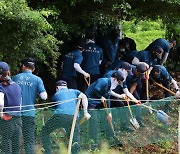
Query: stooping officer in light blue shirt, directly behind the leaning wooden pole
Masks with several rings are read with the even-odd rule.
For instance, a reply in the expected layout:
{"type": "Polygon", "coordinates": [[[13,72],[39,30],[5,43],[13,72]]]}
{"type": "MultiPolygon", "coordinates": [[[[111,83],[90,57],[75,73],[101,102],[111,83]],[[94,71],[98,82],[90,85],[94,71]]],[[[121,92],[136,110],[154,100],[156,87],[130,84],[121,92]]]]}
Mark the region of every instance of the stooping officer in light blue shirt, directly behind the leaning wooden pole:
{"type": "MultiPolygon", "coordinates": [[[[45,153],[52,153],[50,133],[60,127],[64,128],[66,131],[66,145],[68,144],[78,98],[82,98],[84,116],[89,119],[91,116],[87,112],[88,100],[86,95],[79,90],[68,89],[66,81],[59,80],[56,82],[56,93],[52,97],[52,101],[57,103],[56,109],[54,111],[54,115],[46,122],[45,126],[42,128],[42,143],[43,148],[45,149],[45,153]],[[63,101],[66,101],[66,103],[61,103],[63,101]]],[[[72,145],[72,154],[80,152],[80,130],[78,122],[76,122],[75,125],[72,145]]]]}

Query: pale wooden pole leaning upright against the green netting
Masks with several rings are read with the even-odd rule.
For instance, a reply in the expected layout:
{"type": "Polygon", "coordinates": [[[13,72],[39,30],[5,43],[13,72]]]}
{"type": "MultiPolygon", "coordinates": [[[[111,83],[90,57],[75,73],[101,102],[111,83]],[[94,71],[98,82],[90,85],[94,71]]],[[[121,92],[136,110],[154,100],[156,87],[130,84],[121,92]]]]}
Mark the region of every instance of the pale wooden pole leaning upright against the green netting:
{"type": "Polygon", "coordinates": [[[78,102],[76,104],[76,110],[74,113],[73,122],[72,122],[71,133],[70,133],[70,137],[69,137],[68,154],[71,154],[72,140],[73,140],[73,136],[74,136],[74,129],[75,129],[76,119],[77,119],[78,112],[79,112],[80,102],[81,102],[81,99],[78,99],[78,102]]]}

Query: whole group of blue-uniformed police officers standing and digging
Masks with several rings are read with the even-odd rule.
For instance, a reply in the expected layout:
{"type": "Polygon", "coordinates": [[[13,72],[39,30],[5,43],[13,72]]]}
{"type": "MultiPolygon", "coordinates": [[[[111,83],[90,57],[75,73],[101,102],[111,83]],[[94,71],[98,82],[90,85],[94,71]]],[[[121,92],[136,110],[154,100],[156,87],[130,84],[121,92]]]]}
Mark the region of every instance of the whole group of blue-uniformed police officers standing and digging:
{"type": "MultiPolygon", "coordinates": [[[[119,32],[113,29],[110,35],[99,43],[93,35],[87,35],[86,41],[77,39],[74,50],[64,56],[60,80],[56,82],[56,93],[52,97],[55,106],[54,115],[42,128],[42,143],[45,153],[52,153],[50,133],[64,127],[69,138],[72,120],[78,98],[81,98],[84,116],[89,119],[88,109],[125,106],[126,101],[141,104],[147,100],[147,81],[157,81],[170,89],[172,82],[176,95],[180,95],[177,82],[163,66],[175,41],[157,39],[145,50],[137,51],[131,38],[119,39],[119,32]],[[100,46],[101,45],[101,46],[100,46]],[[87,79],[90,79],[88,86],[87,79]],[[83,92],[82,92],[83,91],[83,92]],[[92,99],[94,98],[94,99],[92,99]],[[110,101],[111,98],[119,101],[110,101]]],[[[10,78],[10,69],[6,62],[0,62],[0,109],[2,151],[20,153],[21,134],[26,154],[35,153],[35,103],[36,97],[47,99],[43,81],[33,74],[35,61],[32,58],[22,62],[22,73],[10,78]]],[[[149,86],[148,86],[149,87],[149,86]]],[[[165,92],[165,96],[170,96],[165,92]]],[[[167,105],[167,109],[169,105],[167,105]]],[[[137,120],[144,127],[140,112],[137,120]]],[[[107,119],[112,123],[112,114],[107,119]]],[[[91,129],[97,130],[97,114],[92,114],[91,129]]],[[[128,130],[130,128],[125,128],[128,130]]],[[[90,130],[91,131],[91,130],[90,130]]],[[[80,151],[79,125],[76,124],[72,153],[80,151]]],[[[97,136],[96,133],[93,135],[97,136]]],[[[97,137],[94,137],[98,144],[97,137]]]]}

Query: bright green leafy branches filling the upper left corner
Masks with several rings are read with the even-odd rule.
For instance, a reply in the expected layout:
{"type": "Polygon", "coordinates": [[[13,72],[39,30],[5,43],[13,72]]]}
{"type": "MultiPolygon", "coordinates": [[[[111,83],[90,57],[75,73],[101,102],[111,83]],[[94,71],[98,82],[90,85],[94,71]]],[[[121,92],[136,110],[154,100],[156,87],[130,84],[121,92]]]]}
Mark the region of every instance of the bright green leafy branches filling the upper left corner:
{"type": "Polygon", "coordinates": [[[20,61],[33,57],[48,66],[56,75],[56,61],[59,56],[54,30],[44,16],[51,11],[36,11],[28,7],[25,0],[0,2],[0,51],[1,60],[7,61],[13,73],[17,73],[20,61]]]}

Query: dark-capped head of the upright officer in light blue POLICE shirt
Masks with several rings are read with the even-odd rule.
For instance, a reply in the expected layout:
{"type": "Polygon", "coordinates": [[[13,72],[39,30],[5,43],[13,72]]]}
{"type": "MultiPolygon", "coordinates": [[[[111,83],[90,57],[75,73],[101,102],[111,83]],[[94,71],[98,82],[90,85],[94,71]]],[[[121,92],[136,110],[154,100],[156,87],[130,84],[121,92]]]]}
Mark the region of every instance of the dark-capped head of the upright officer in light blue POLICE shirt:
{"type": "Polygon", "coordinates": [[[34,71],[35,70],[35,61],[32,58],[26,58],[22,61],[22,71],[25,70],[30,70],[34,71]]]}

